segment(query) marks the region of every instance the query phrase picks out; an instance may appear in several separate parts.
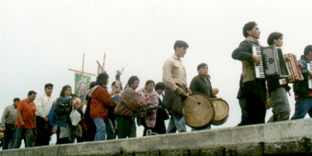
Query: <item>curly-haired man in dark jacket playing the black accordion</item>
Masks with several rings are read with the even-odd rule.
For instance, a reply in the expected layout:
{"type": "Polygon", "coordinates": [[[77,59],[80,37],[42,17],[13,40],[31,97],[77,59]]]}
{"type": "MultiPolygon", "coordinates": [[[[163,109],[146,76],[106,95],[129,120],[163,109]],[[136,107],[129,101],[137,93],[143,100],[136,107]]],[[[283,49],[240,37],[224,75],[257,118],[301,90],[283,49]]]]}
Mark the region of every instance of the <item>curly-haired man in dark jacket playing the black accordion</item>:
{"type": "Polygon", "coordinates": [[[233,51],[232,58],[242,62],[243,85],[245,90],[248,124],[265,123],[266,117],[266,81],[256,79],[254,63],[260,64],[258,56],[252,54],[252,46],[259,45],[260,31],[256,22],[247,22],[243,27],[244,41],[233,51]]]}

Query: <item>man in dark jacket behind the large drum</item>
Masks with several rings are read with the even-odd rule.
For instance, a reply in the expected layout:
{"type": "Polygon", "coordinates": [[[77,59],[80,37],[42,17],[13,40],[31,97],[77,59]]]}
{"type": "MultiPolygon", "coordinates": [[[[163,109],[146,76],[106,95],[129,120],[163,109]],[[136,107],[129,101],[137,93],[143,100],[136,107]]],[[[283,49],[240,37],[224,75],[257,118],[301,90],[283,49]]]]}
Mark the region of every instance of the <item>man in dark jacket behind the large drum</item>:
{"type": "MultiPolygon", "coordinates": [[[[211,87],[211,82],[208,75],[208,65],[206,63],[201,63],[197,66],[198,75],[195,76],[190,84],[190,89],[193,93],[201,93],[206,95],[208,98],[216,98],[214,93],[218,93],[219,90],[214,88],[214,91],[211,87]]],[[[210,124],[207,127],[201,129],[192,128],[192,131],[210,129],[210,124]]]]}

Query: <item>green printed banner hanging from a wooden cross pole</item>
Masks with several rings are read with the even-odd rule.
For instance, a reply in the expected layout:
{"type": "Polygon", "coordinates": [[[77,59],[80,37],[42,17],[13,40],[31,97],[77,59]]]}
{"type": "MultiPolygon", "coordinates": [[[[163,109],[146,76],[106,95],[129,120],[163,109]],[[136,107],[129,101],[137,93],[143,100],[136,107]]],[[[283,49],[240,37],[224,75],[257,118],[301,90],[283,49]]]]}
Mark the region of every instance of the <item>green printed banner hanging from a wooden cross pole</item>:
{"type": "Polygon", "coordinates": [[[75,94],[84,103],[87,89],[90,87],[91,76],[75,72],[75,94]]]}

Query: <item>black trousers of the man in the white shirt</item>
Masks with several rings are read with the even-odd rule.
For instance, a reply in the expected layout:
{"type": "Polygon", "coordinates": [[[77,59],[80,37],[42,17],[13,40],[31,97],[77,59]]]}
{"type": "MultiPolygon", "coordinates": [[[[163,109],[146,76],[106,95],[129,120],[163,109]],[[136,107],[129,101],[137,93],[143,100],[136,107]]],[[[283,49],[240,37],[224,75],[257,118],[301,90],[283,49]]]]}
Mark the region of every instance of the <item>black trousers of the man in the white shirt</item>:
{"type": "Polygon", "coordinates": [[[36,117],[37,140],[35,146],[49,145],[52,126],[40,116],[36,117]]]}

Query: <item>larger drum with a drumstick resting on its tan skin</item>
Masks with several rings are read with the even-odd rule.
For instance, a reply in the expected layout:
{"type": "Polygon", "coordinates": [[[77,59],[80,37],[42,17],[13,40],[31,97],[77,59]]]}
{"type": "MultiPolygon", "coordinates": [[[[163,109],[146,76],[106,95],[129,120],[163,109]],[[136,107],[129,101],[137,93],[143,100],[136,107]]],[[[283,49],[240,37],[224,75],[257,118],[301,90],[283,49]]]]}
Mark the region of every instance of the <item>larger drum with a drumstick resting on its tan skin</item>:
{"type": "Polygon", "coordinates": [[[200,102],[197,104],[193,99],[187,97],[182,101],[185,112],[185,123],[192,128],[204,128],[211,124],[214,118],[214,108],[209,98],[203,94],[195,93],[189,95],[200,102]]]}

